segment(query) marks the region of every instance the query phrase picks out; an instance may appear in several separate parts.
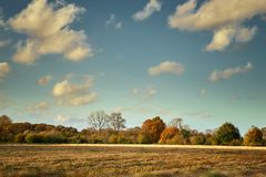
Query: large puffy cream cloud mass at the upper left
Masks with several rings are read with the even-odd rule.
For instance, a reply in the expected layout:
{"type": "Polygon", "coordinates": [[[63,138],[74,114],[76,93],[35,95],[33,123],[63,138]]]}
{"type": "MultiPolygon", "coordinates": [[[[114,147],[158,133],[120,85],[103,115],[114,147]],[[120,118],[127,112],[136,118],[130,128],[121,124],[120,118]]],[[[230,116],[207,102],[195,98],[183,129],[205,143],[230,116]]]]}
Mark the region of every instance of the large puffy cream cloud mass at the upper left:
{"type": "Polygon", "coordinates": [[[18,44],[13,60],[32,64],[43,54],[63,54],[70,61],[81,61],[93,55],[86,43],[84,31],[70,29],[76,15],[84,11],[74,4],[48,3],[47,0],[32,2],[14,18],[10,27],[28,35],[28,40],[18,44]]]}

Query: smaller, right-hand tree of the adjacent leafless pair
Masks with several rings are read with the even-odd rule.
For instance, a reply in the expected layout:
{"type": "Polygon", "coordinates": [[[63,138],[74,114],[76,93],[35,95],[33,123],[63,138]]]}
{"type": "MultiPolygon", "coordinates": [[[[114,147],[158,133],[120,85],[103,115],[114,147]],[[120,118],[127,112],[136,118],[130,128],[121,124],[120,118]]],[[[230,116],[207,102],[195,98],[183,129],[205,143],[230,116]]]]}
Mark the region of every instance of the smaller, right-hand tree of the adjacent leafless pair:
{"type": "Polygon", "coordinates": [[[121,128],[125,127],[125,119],[122,117],[121,113],[112,113],[109,117],[110,126],[119,133],[121,128]]]}

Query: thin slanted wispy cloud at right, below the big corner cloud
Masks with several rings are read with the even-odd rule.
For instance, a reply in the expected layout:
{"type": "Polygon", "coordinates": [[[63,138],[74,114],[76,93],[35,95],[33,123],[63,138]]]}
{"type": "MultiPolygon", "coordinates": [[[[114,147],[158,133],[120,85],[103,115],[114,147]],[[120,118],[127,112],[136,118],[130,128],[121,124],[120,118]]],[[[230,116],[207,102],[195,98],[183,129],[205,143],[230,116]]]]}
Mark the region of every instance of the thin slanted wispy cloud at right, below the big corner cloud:
{"type": "Polygon", "coordinates": [[[223,71],[213,71],[208,77],[209,81],[212,82],[217,82],[221,80],[226,80],[229,79],[233,75],[245,73],[253,70],[253,64],[248,62],[245,66],[237,66],[234,69],[226,69],[223,71]]]}

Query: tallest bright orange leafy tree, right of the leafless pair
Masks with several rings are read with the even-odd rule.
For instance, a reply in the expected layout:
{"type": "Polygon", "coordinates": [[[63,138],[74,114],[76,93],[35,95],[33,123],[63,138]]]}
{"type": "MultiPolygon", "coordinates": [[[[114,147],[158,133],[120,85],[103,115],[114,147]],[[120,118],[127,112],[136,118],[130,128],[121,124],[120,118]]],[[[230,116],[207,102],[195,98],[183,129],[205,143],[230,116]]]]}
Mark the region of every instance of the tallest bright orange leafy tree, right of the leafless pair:
{"type": "Polygon", "coordinates": [[[157,143],[164,128],[165,123],[160,116],[149,118],[142,124],[142,133],[150,138],[149,143],[157,143]]]}

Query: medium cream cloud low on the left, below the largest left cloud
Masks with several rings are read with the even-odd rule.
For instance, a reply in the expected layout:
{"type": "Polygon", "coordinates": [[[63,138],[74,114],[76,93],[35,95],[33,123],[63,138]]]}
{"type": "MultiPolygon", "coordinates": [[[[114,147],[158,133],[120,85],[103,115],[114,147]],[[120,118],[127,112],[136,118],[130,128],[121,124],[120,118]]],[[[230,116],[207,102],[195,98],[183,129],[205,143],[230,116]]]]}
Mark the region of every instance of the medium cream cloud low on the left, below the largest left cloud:
{"type": "Polygon", "coordinates": [[[96,100],[96,94],[91,92],[92,79],[85,79],[82,84],[71,83],[69,80],[58,82],[53,86],[52,95],[57,105],[81,106],[96,100]]]}

